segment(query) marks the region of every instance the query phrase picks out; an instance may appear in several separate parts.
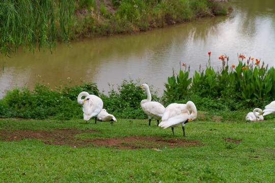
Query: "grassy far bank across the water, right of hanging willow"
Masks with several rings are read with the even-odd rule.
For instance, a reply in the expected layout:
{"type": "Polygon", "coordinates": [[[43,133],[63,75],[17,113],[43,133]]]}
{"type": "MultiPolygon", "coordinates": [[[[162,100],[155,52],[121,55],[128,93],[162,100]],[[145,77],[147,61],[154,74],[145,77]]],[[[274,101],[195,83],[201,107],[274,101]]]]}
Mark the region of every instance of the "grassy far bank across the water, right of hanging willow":
{"type": "Polygon", "coordinates": [[[200,17],[227,15],[230,10],[226,6],[215,0],[78,0],[69,38],[132,34],[200,17]]]}

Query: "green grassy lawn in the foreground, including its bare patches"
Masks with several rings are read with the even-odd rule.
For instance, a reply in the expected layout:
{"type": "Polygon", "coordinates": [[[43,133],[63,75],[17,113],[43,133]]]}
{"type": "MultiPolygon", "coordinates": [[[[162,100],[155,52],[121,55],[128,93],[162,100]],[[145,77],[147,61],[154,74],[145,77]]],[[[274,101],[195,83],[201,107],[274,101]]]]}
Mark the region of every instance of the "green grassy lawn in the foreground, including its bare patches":
{"type": "Polygon", "coordinates": [[[275,123],[0,119],[0,182],[274,182],[275,123]]]}

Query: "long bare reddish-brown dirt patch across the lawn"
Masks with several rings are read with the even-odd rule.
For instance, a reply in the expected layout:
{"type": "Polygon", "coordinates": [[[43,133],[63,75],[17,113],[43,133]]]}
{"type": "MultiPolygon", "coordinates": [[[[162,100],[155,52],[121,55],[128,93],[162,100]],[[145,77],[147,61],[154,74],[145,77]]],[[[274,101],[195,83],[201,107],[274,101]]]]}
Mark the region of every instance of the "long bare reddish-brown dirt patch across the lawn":
{"type": "Polygon", "coordinates": [[[52,131],[31,130],[0,130],[0,141],[10,142],[23,139],[38,139],[50,145],[68,145],[71,147],[104,146],[118,149],[141,149],[141,148],[175,148],[188,146],[202,146],[198,141],[185,139],[164,139],[162,137],[131,136],[123,138],[106,139],[80,139],[75,137],[82,133],[96,133],[94,130],[79,129],[56,129],[52,131]]]}

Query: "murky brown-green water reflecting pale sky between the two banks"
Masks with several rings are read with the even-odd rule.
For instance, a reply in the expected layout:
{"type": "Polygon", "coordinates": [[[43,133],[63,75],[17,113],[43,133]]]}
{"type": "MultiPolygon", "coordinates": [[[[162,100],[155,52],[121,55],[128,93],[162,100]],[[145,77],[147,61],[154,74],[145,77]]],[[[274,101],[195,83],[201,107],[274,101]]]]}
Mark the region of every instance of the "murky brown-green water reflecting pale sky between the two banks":
{"type": "MultiPolygon", "coordinates": [[[[0,71],[0,98],[5,90],[26,84],[60,82],[80,84],[96,82],[106,95],[109,84],[140,78],[163,93],[164,83],[178,73],[180,63],[190,66],[190,75],[205,68],[208,52],[211,65],[221,67],[219,56],[229,56],[229,65],[237,64],[237,54],[261,59],[275,66],[275,1],[232,0],[229,16],[202,18],[189,23],[154,29],[146,33],[86,39],[58,45],[49,53],[18,51],[5,57],[0,71]]],[[[142,83],[141,83],[142,84],[142,83]]]]}

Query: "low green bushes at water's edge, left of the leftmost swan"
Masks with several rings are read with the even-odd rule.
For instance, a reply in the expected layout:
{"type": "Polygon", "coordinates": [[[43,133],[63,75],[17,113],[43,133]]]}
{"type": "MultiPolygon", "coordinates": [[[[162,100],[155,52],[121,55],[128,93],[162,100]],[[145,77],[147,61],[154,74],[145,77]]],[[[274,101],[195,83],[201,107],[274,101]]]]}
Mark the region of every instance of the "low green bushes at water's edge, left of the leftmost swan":
{"type": "Polygon", "coordinates": [[[0,117],[22,117],[45,119],[50,116],[58,119],[71,119],[82,116],[81,106],[77,104],[80,92],[99,95],[95,83],[80,86],[59,86],[56,90],[48,85],[36,83],[33,91],[26,87],[7,92],[0,100],[0,117]]]}

